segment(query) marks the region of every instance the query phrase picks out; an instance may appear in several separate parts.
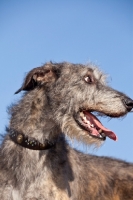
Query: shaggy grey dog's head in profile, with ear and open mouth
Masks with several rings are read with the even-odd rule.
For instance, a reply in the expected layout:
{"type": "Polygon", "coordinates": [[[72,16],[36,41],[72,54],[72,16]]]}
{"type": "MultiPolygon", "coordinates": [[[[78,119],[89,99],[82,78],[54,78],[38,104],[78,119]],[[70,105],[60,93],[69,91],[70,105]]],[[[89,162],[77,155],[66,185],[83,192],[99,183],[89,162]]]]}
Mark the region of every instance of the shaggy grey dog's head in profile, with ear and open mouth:
{"type": "Polygon", "coordinates": [[[105,75],[91,64],[47,63],[35,68],[16,93],[34,89],[44,91],[49,115],[61,131],[86,143],[117,139],[94,113],[121,117],[133,108],[133,100],[107,86],[105,75]]]}

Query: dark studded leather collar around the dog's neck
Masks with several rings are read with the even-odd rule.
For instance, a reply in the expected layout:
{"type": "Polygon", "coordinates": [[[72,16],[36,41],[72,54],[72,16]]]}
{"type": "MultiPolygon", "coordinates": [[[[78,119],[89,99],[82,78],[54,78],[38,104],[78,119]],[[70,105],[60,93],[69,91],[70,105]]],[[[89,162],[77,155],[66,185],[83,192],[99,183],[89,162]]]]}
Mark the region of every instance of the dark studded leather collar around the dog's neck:
{"type": "Polygon", "coordinates": [[[55,146],[55,142],[50,142],[47,139],[42,144],[35,138],[24,135],[22,132],[18,132],[13,129],[9,129],[8,131],[10,132],[9,136],[13,142],[27,149],[47,150],[55,146]]]}

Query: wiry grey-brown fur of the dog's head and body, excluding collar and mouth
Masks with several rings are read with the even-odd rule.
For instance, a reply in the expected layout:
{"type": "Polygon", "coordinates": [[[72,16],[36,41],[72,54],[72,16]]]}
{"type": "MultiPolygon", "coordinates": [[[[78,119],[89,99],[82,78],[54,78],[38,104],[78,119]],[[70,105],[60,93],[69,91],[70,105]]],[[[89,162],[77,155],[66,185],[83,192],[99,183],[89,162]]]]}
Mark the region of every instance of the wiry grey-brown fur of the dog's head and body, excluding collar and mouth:
{"type": "Polygon", "coordinates": [[[64,137],[99,145],[77,124],[77,114],[124,116],[133,107],[129,97],[107,86],[97,67],[71,63],[31,70],[21,90],[26,93],[9,110],[9,129],[56,145],[30,150],[15,144],[8,131],[0,149],[0,200],[133,200],[133,164],[85,155],[64,137]]]}

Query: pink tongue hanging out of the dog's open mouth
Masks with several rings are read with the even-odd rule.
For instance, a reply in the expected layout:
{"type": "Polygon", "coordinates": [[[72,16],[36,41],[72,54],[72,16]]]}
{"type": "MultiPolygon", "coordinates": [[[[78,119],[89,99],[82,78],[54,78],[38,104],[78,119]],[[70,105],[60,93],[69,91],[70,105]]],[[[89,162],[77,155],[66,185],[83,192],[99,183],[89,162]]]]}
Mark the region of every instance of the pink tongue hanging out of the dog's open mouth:
{"type": "MultiPolygon", "coordinates": [[[[115,135],[115,133],[112,132],[111,130],[105,128],[101,124],[101,122],[92,113],[84,111],[84,114],[85,114],[86,118],[90,121],[90,123],[94,124],[94,126],[96,128],[102,129],[106,136],[108,136],[112,140],[115,140],[115,141],[117,140],[117,136],[115,135]]],[[[96,130],[96,128],[91,128],[93,135],[99,135],[99,132],[96,130]]]]}

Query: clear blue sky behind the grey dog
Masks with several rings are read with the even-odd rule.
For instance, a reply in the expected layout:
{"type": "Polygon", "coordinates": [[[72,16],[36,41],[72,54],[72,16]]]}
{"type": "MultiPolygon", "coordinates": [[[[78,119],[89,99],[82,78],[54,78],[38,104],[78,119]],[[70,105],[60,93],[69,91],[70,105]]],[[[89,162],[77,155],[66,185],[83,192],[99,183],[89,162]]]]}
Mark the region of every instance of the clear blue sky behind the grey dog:
{"type": "MultiPolygon", "coordinates": [[[[7,106],[26,72],[47,61],[97,64],[109,84],[133,98],[132,0],[0,1],[0,132],[7,106]]],[[[118,141],[107,139],[97,155],[133,162],[133,113],[101,119],[118,141]]],[[[81,148],[82,149],[82,148],[81,148]]]]}

